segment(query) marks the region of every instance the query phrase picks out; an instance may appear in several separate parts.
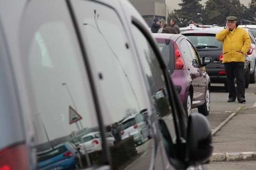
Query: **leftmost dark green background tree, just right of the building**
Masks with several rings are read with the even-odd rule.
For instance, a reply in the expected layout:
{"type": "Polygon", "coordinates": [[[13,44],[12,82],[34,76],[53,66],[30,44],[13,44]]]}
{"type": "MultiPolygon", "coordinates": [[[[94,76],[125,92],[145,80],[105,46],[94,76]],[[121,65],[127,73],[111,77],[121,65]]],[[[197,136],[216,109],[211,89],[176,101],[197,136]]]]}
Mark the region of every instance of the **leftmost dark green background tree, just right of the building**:
{"type": "Polygon", "coordinates": [[[202,14],[203,5],[200,4],[201,0],[182,0],[182,3],[178,5],[180,9],[175,9],[175,14],[178,17],[177,23],[189,23],[189,20],[196,20],[200,22],[200,17],[198,14],[202,14]]]}

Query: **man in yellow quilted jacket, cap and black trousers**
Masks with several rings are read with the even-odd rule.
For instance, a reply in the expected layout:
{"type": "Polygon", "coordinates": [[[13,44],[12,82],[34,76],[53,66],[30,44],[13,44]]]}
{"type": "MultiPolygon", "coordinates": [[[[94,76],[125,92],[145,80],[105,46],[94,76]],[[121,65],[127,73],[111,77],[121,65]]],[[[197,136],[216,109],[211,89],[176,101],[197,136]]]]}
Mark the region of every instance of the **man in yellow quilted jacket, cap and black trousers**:
{"type": "Polygon", "coordinates": [[[244,54],[250,48],[250,37],[244,28],[237,27],[237,17],[229,16],[226,20],[226,28],[216,34],[216,39],[222,42],[223,47],[222,62],[229,88],[229,100],[227,102],[235,102],[237,98],[239,103],[243,103],[246,102],[244,96],[244,54]]]}

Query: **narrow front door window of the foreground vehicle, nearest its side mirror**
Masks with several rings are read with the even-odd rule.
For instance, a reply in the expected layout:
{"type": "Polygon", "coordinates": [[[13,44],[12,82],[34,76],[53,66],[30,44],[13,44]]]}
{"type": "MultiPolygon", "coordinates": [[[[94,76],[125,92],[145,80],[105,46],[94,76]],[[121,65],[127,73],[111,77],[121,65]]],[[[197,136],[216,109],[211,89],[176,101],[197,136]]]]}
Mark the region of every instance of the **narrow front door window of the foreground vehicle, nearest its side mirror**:
{"type": "Polygon", "coordinates": [[[176,133],[174,119],[172,116],[172,107],[169,103],[169,96],[167,94],[166,82],[163,78],[163,71],[160,68],[157,57],[144,35],[135,26],[133,26],[133,33],[136,37],[136,45],[140,46],[138,52],[141,57],[141,64],[145,71],[145,77],[150,88],[150,95],[152,103],[155,106],[155,112],[160,118],[166,121],[169,133],[172,136],[173,142],[175,142],[176,133]]]}

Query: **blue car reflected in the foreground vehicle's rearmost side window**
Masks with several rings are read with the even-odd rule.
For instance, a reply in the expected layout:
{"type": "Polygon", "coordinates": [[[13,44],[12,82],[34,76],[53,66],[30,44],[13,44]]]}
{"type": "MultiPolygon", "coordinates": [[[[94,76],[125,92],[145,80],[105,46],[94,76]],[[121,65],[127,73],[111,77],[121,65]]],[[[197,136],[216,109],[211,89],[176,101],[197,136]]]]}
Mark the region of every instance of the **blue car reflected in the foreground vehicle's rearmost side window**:
{"type": "Polygon", "coordinates": [[[39,170],[65,170],[76,169],[80,156],[73,143],[64,142],[54,149],[38,153],[37,159],[39,170]]]}

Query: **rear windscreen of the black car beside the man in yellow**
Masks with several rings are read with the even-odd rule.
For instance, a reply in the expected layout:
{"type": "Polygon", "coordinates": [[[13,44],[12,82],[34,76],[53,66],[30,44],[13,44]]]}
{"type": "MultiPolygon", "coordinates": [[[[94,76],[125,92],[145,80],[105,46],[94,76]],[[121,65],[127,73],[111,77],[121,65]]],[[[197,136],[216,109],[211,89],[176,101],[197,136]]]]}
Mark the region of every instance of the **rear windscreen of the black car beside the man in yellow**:
{"type": "Polygon", "coordinates": [[[221,42],[215,38],[215,34],[208,35],[208,34],[193,34],[193,35],[186,35],[192,44],[197,48],[198,51],[205,50],[205,49],[220,49],[221,42]]]}

